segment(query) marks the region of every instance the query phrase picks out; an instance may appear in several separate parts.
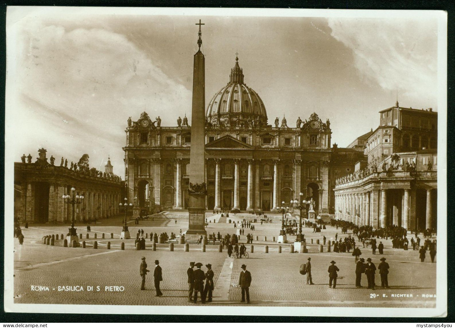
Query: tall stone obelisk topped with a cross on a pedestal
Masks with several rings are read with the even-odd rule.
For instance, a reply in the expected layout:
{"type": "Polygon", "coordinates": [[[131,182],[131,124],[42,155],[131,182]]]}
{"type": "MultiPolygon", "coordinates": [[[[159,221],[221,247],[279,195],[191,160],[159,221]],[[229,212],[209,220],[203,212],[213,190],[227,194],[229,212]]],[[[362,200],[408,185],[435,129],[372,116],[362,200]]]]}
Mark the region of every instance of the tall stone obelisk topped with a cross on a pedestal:
{"type": "Polygon", "coordinates": [[[195,240],[205,231],[205,57],[201,51],[201,20],[199,20],[199,49],[194,54],[193,65],[193,101],[191,110],[191,148],[190,148],[190,180],[189,195],[189,222],[186,239],[195,240]]]}

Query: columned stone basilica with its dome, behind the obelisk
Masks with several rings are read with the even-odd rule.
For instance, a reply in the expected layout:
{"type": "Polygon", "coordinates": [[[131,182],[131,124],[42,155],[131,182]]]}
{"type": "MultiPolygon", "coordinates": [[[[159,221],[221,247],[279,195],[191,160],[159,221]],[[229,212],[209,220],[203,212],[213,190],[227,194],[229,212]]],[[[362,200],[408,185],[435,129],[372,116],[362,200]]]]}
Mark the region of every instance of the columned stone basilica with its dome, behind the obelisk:
{"type": "MultiPolygon", "coordinates": [[[[330,121],[316,113],[268,124],[263,101],[244,82],[236,58],[229,82],[206,109],[206,207],[273,211],[291,199],[313,198],[317,215],[334,213],[335,179],[353,172],[363,151],[331,147],[330,121]],[[291,125],[289,123],[289,125],[291,125]]],[[[143,112],[126,128],[125,177],[139,212],[188,207],[191,126],[161,126],[143,112]]]]}

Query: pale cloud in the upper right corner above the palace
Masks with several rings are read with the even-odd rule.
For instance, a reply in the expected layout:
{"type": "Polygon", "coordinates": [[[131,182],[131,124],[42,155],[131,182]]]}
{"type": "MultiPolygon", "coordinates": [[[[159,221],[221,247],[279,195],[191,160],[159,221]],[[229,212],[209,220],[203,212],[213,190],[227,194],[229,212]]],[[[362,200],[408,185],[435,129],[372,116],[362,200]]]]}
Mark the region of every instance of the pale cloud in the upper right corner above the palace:
{"type": "Polygon", "coordinates": [[[436,104],[436,21],[329,18],[331,35],[354,54],[364,82],[436,104]],[[433,34],[433,35],[432,35],[433,34]]]}

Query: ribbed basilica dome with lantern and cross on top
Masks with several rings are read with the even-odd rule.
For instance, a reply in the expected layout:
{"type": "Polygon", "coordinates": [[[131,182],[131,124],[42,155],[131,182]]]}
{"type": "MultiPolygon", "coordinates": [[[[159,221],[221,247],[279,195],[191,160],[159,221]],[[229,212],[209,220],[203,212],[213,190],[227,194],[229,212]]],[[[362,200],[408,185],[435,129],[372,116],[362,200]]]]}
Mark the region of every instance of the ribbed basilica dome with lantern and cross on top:
{"type": "Polygon", "coordinates": [[[209,102],[206,120],[212,124],[238,125],[239,121],[257,121],[267,124],[267,112],[256,91],[243,82],[243,69],[238,66],[238,57],[231,69],[229,83],[223,86],[209,102]]]}

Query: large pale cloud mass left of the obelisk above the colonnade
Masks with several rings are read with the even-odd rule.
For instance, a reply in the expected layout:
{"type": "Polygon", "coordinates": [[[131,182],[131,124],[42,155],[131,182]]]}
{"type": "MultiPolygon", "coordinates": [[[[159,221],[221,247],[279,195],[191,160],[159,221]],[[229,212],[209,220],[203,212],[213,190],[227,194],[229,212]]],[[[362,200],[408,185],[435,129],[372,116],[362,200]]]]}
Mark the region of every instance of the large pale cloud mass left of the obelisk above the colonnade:
{"type": "Polygon", "coordinates": [[[15,107],[7,111],[26,122],[17,155],[30,149],[30,140],[69,161],[89,153],[93,166],[111,154],[115,173],[123,176],[128,116],[136,120],[145,110],[152,119],[160,115],[163,124],[172,124],[177,108],[191,113],[191,92],[124,35],[66,30],[27,18],[14,29],[17,45],[10,64],[16,75],[8,83],[15,90],[15,107]]]}

